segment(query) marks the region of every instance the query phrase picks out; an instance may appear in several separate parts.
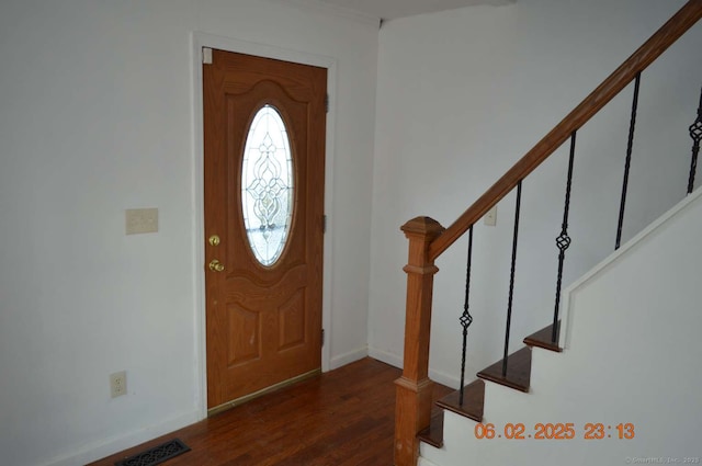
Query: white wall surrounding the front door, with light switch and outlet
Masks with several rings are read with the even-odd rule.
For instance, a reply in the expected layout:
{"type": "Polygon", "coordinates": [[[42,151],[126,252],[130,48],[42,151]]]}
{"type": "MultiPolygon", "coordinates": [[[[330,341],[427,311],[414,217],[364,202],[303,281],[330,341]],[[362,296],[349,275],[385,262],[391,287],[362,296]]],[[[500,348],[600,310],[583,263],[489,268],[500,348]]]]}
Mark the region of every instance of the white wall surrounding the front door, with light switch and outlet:
{"type": "Polygon", "coordinates": [[[82,464],[204,413],[193,32],[336,61],[328,364],[365,354],[376,27],[276,1],[3,0],[3,464],[82,464]],[[160,231],[126,237],[131,207],[160,231]]]}

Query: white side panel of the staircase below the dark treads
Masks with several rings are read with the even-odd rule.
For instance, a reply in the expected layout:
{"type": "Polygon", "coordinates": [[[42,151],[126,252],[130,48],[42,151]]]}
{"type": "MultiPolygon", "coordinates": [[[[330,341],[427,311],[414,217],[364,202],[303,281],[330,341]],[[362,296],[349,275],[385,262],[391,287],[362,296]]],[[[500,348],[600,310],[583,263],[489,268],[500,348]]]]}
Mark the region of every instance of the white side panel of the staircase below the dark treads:
{"type": "MultiPolygon", "coordinates": [[[[532,350],[529,394],[485,387],[484,423],[574,424],[573,440],[477,440],[444,412],[444,446],[420,465],[616,465],[700,458],[702,190],[688,196],[564,294],[563,353],[532,350]],[[604,437],[585,440],[587,423],[604,437]],[[616,425],[632,423],[634,439],[616,425]],[[609,429],[608,429],[609,427],[609,429]],[[652,459],[653,458],[653,459],[652,459]]],[[[702,458],[697,459],[702,461],[702,458]]]]}

